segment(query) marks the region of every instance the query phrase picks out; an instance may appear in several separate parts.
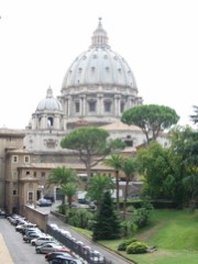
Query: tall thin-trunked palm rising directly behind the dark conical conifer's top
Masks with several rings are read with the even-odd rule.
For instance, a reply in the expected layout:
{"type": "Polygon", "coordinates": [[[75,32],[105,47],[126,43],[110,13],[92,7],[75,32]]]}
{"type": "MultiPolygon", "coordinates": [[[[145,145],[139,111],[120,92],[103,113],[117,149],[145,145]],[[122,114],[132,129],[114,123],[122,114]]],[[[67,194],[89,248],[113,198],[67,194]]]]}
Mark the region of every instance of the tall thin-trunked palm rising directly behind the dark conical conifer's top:
{"type": "Polygon", "coordinates": [[[105,164],[114,168],[116,174],[116,187],[117,187],[117,209],[120,209],[119,202],[119,172],[122,169],[123,157],[120,154],[112,154],[105,161],[105,164]]]}

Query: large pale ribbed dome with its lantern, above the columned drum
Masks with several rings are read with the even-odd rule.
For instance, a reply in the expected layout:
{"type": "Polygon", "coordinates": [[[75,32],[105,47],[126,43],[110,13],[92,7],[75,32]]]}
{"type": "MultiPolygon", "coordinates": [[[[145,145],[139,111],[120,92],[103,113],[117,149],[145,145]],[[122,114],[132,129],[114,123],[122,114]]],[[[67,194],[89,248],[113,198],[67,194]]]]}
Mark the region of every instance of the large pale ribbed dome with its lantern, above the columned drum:
{"type": "Polygon", "coordinates": [[[135,78],[125,59],[111,51],[101,19],[92,35],[92,44],[67,70],[62,89],[79,86],[110,86],[136,89],[135,78]]]}

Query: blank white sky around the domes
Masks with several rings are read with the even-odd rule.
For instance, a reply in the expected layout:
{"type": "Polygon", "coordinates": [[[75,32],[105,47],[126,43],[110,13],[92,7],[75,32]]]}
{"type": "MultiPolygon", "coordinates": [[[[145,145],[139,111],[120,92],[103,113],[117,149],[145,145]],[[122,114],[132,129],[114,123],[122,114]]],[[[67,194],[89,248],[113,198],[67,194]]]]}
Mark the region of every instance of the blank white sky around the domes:
{"type": "Polygon", "coordinates": [[[0,0],[0,128],[24,129],[51,86],[61,95],[73,61],[102,18],[109,45],[130,65],[144,105],[193,125],[198,106],[197,0],[0,0]]]}

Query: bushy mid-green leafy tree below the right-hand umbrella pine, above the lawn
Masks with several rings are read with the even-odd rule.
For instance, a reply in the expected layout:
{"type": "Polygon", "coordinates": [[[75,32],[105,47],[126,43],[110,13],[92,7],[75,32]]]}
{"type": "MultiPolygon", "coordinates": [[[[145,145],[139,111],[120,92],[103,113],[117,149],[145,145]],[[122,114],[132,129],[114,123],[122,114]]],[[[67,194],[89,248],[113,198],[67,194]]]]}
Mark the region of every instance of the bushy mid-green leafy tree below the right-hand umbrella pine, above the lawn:
{"type": "MultiPolygon", "coordinates": [[[[175,155],[157,142],[138,153],[139,170],[144,176],[144,194],[153,199],[174,199],[179,190],[175,155]]],[[[182,197],[180,197],[182,198],[182,197]]]]}

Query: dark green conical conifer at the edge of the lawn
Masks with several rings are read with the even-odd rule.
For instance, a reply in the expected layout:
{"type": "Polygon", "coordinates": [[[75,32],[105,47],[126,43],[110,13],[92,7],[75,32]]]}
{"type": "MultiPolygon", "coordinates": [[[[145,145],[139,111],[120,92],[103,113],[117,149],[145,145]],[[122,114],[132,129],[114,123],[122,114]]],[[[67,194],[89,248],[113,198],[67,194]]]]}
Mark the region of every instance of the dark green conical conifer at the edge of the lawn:
{"type": "Polygon", "coordinates": [[[103,194],[102,202],[96,213],[92,227],[92,240],[112,240],[120,237],[121,222],[113,210],[110,191],[103,194]]]}

